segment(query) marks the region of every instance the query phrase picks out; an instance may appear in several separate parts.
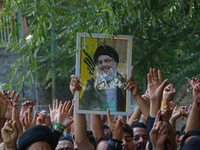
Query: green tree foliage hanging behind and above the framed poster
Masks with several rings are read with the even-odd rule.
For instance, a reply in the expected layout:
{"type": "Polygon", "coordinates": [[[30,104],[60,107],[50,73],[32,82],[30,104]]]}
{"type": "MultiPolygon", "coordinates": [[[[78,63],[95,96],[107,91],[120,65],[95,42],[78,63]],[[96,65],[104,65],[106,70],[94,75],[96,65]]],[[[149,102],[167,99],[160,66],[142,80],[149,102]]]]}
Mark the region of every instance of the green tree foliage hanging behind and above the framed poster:
{"type": "MultiPolygon", "coordinates": [[[[27,79],[34,83],[34,72],[40,83],[50,83],[53,42],[56,45],[53,63],[58,78],[69,79],[75,69],[77,32],[132,35],[132,63],[140,85],[151,67],[160,69],[163,77],[169,78],[177,88],[186,78],[199,74],[200,3],[197,0],[7,0],[3,5],[0,25],[8,24],[12,29],[8,48],[22,55],[12,66],[10,85],[21,86],[27,79]],[[29,32],[16,40],[18,6],[21,15],[27,18],[29,32]],[[25,38],[29,34],[32,39],[28,42],[25,38]]],[[[145,86],[141,87],[142,91],[145,86]]]]}

